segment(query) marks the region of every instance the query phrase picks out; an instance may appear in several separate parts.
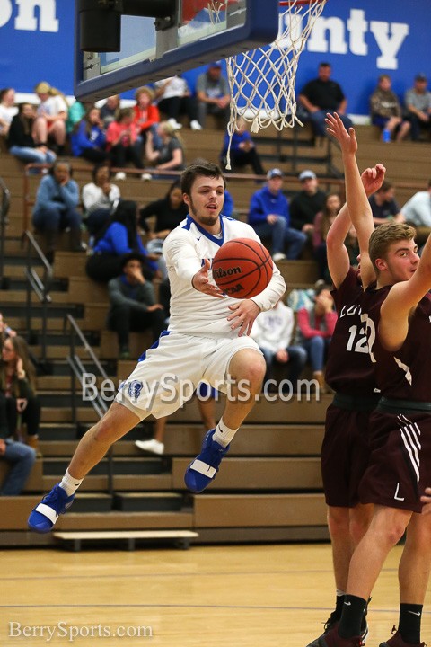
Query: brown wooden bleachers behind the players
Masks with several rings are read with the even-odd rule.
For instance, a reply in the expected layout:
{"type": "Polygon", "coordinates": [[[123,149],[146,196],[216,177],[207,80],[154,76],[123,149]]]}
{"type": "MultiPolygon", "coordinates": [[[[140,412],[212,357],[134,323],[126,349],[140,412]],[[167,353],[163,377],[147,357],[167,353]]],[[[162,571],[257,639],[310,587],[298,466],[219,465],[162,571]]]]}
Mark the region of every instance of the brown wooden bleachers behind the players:
{"type": "MultiPolygon", "coordinates": [[[[197,156],[218,161],[220,131],[192,132],[184,129],[181,134],[186,141],[189,162],[197,156]]],[[[428,146],[409,143],[383,145],[369,127],[358,128],[357,135],[360,166],[383,162],[388,168],[388,177],[397,186],[397,198],[401,204],[414,191],[425,186],[429,179],[427,164],[424,164],[428,146]]],[[[261,137],[268,137],[268,132],[261,137]]],[[[279,141],[262,139],[259,142],[258,134],[256,140],[267,167],[277,165],[286,171],[287,191],[299,189],[296,174],[310,166],[324,178],[321,181],[323,189],[339,188],[339,179],[325,174],[326,144],[318,142],[312,146],[306,131],[299,132],[298,137],[303,155],[296,158],[294,173],[292,161],[286,159],[289,145],[283,144],[281,158],[277,157],[280,154],[279,141]],[[311,162],[310,158],[314,161],[311,162]]],[[[292,133],[284,133],[283,138],[286,142],[289,138],[293,142],[292,133]]],[[[75,179],[82,186],[89,181],[91,166],[81,160],[73,160],[73,164],[79,169],[75,172],[75,179]]],[[[341,168],[335,146],[332,164],[341,168]]],[[[24,254],[20,236],[22,227],[30,223],[31,202],[39,179],[30,176],[24,182],[22,164],[5,153],[0,154],[0,175],[8,185],[12,199],[4,259],[4,277],[10,279],[11,286],[1,291],[0,310],[13,328],[25,334],[24,254]]],[[[252,175],[245,178],[232,175],[229,180],[229,189],[241,217],[246,213],[251,193],[256,190],[255,180],[252,175]]],[[[170,183],[167,180],[142,182],[130,173],[127,180],[121,182],[121,192],[123,197],[144,204],[163,196],[170,183]]],[[[105,331],[107,291],[104,286],[86,278],[84,262],[84,254],[65,250],[56,255],[51,291],[53,304],[49,306],[48,317],[48,359],[52,372],[38,378],[43,407],[40,431],[43,457],[37,459],[22,496],[2,500],[4,515],[0,527],[4,531],[3,545],[40,545],[53,541],[51,536],[31,536],[25,532],[28,512],[40,499],[40,494],[58,482],[79,435],[97,420],[90,403],[78,403],[78,424],[73,424],[65,315],[71,313],[75,316],[116,385],[134,367],[133,362],[116,361],[115,335],[105,331]]],[[[282,261],[279,267],[288,289],[309,287],[317,279],[314,261],[282,261]]],[[[40,332],[40,316],[40,305],[32,297],[34,332],[40,332]]],[[[39,340],[33,341],[36,343],[31,345],[31,350],[38,358],[39,340]]],[[[146,342],[145,335],[132,335],[132,350],[136,356],[146,342]]],[[[83,361],[88,359],[84,349],[78,349],[77,353],[83,361]]],[[[202,438],[197,404],[191,401],[168,421],[163,457],[144,456],[135,447],[134,439],[149,434],[151,430],[151,421],[145,422],[144,429],[132,430],[113,448],[116,496],[109,492],[105,459],[85,479],[74,508],[60,519],[58,529],[182,528],[197,531],[199,541],[209,543],[326,538],[319,453],[328,403],[330,396],[324,396],[321,402],[313,398],[310,403],[259,401],[235,438],[216,482],[202,495],[191,495],[185,490],[182,480],[184,468],[190,457],[198,452],[202,438]],[[132,496],[133,493],[136,494],[132,496]]],[[[223,403],[217,403],[217,415],[222,408],[223,403]]],[[[4,474],[4,465],[0,464],[0,477],[1,474],[4,474]]]]}

